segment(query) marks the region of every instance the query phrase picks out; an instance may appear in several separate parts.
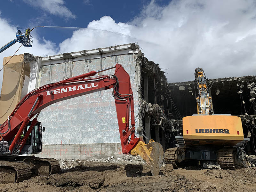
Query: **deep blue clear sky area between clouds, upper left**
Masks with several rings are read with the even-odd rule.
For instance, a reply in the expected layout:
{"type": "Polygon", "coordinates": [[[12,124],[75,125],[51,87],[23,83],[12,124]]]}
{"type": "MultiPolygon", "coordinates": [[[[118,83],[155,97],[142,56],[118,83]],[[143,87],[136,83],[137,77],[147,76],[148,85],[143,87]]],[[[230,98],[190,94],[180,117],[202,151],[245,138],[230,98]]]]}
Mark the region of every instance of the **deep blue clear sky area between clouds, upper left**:
{"type": "MultiPolygon", "coordinates": [[[[42,1],[41,1],[42,2],[42,1]]],[[[61,1],[56,1],[61,2],[61,1]]],[[[170,0],[157,0],[156,4],[166,5],[170,0]]],[[[60,14],[51,14],[49,11],[36,7],[36,1],[16,1],[6,0],[1,2],[1,17],[10,21],[10,24],[20,27],[35,26],[66,26],[86,28],[92,20],[99,20],[108,15],[118,22],[129,22],[142,11],[143,7],[148,5],[148,0],[129,0],[129,1],[89,1],[72,0],[63,1],[63,7],[70,11],[60,14]]],[[[36,28],[39,36],[44,36],[56,44],[61,43],[72,36],[74,29],[58,28],[36,28]]]]}

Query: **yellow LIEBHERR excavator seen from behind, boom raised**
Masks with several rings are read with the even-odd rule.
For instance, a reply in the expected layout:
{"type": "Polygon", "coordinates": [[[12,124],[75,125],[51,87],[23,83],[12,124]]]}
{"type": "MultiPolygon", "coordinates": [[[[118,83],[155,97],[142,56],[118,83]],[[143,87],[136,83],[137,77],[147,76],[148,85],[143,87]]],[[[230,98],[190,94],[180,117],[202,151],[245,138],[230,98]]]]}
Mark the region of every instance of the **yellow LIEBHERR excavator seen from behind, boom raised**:
{"type": "Polygon", "coordinates": [[[247,167],[243,149],[250,139],[244,138],[241,118],[213,113],[202,68],[195,69],[195,81],[197,114],[182,119],[183,137],[175,136],[177,147],[165,150],[165,163],[174,168],[205,161],[217,161],[222,169],[247,167]]]}

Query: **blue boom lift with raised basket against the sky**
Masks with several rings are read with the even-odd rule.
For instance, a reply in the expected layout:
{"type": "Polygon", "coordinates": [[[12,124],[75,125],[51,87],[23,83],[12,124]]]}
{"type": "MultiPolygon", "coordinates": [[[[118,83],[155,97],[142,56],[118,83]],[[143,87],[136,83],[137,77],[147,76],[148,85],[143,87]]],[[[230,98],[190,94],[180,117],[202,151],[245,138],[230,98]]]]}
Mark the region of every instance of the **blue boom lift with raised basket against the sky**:
{"type": "MultiPolygon", "coordinates": [[[[33,37],[29,34],[28,36],[25,35],[27,28],[17,28],[16,38],[10,41],[9,43],[5,44],[3,47],[0,48],[0,53],[4,50],[11,47],[16,42],[23,44],[24,47],[32,47],[33,44],[33,37]]],[[[32,29],[33,30],[33,29],[32,29]]]]}

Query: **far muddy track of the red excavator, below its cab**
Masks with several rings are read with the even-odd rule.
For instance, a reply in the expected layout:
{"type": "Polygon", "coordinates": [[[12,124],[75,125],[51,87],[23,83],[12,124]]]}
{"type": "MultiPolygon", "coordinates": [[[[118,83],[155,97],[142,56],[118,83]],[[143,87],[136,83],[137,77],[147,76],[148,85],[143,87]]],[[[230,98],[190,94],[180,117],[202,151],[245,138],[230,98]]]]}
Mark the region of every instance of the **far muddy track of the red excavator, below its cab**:
{"type": "Polygon", "coordinates": [[[57,159],[40,158],[34,156],[19,157],[21,161],[27,163],[32,174],[39,176],[47,176],[60,173],[60,164],[57,159]]]}

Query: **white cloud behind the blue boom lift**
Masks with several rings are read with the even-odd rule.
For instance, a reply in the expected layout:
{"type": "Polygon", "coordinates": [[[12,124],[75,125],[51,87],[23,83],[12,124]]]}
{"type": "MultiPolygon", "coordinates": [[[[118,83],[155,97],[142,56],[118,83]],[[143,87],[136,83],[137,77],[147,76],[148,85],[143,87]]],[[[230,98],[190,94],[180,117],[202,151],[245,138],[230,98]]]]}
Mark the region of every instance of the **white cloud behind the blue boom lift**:
{"type": "MultiPolygon", "coordinates": [[[[1,15],[0,15],[1,16],[1,15]]],[[[16,39],[16,30],[17,28],[10,25],[7,20],[4,20],[0,17],[0,34],[4,34],[4,38],[0,38],[0,47],[8,43],[9,41],[16,39]]],[[[33,41],[33,47],[20,47],[20,43],[16,43],[12,45],[10,48],[6,49],[4,52],[0,53],[0,66],[2,68],[3,60],[4,57],[12,56],[17,49],[20,47],[19,51],[16,53],[18,54],[23,54],[24,52],[31,53],[35,56],[43,56],[45,55],[53,55],[56,54],[56,45],[53,44],[50,41],[47,41],[43,39],[43,41],[39,42],[38,39],[41,39],[35,31],[33,30],[31,32],[31,35],[34,37],[33,41]]],[[[0,68],[0,69],[1,69],[0,68]]],[[[2,82],[3,82],[3,70],[0,71],[0,90],[2,87],[2,82]]]]}

